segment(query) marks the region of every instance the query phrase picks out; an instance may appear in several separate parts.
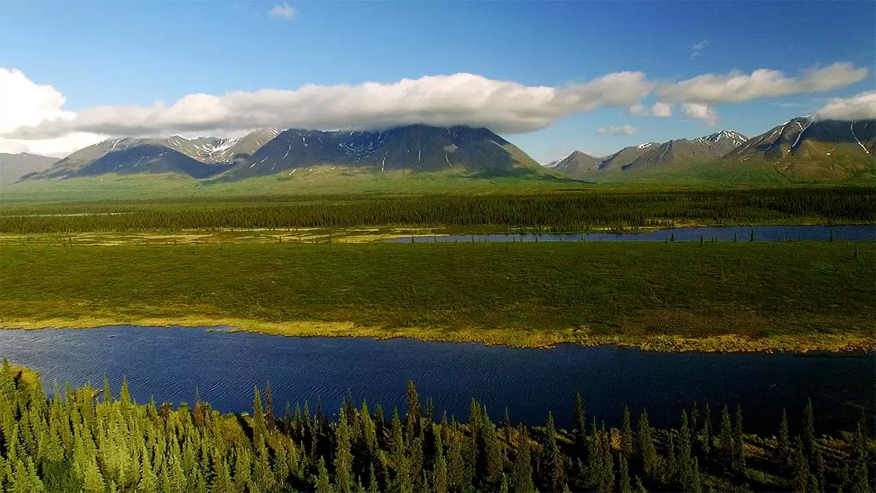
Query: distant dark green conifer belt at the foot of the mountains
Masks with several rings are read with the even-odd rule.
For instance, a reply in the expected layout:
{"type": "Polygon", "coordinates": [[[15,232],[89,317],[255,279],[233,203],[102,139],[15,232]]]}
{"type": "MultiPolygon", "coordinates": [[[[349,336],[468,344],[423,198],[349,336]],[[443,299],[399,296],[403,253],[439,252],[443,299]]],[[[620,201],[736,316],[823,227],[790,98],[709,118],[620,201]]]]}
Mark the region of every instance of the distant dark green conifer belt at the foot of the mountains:
{"type": "Polygon", "coordinates": [[[872,187],[589,191],[530,195],[256,196],[86,204],[7,204],[0,232],[446,226],[576,232],[665,225],[855,223],[876,220],[872,187]],[[124,212],[108,215],[109,212],[124,212]],[[51,216],[52,214],[98,214],[51,216]]]}

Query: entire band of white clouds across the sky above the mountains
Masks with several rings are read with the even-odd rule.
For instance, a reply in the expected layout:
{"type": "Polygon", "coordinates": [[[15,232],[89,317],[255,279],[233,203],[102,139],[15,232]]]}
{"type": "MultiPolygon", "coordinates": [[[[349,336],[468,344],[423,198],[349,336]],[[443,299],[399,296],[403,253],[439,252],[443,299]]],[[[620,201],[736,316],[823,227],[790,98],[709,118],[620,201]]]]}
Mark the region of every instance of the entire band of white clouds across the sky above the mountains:
{"type": "MultiPolygon", "coordinates": [[[[598,108],[668,118],[677,104],[688,118],[717,121],[715,104],[839,89],[859,82],[866,68],[838,62],[794,77],[771,69],[751,74],[697,75],[681,82],[617,72],[562,87],[526,86],[481,75],[428,75],[399,82],[299,89],[190,94],[173,104],[106,105],[78,112],[51,85],[0,68],[0,152],[61,155],[109,136],[219,134],[260,127],[363,130],[395,125],[485,126],[499,133],[533,132],[560,118],[598,108]],[[643,99],[658,101],[646,107],[643,99]]],[[[833,99],[830,118],[876,118],[876,93],[833,99]]]]}

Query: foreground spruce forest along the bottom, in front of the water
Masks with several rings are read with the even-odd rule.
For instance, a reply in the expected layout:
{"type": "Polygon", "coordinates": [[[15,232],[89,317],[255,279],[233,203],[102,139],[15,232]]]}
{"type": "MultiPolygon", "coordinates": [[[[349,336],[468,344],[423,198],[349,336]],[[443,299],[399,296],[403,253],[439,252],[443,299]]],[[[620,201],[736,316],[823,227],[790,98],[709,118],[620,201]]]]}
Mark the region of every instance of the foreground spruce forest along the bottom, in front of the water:
{"type": "MultiPolygon", "coordinates": [[[[675,429],[655,429],[642,410],[608,429],[580,399],[567,432],[494,421],[471,401],[466,423],[434,421],[436,408],[408,383],[406,412],[348,397],[333,419],[316,403],[275,407],[255,389],[251,415],[206,403],[136,404],[126,382],[55,388],[0,368],[0,491],[18,493],[254,493],[538,491],[872,491],[876,447],[862,419],[855,432],[816,430],[811,404],[795,433],[746,434],[739,406],[696,404],[675,429]],[[799,432],[796,432],[799,430],[799,432]]],[[[795,418],[795,422],[797,418],[795,418]]]]}

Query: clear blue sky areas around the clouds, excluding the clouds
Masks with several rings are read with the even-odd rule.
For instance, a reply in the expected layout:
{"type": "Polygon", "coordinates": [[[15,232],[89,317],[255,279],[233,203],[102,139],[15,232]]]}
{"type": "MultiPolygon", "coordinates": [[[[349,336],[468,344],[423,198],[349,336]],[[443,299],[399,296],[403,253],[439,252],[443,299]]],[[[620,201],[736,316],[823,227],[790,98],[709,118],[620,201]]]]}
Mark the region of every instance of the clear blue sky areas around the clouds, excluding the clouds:
{"type": "MultiPolygon", "coordinates": [[[[863,80],[828,91],[710,104],[715,126],[680,106],[671,118],[604,106],[532,132],[501,132],[540,161],[721,128],[753,135],[830,98],[874,89],[874,2],[289,2],[292,18],[270,16],[275,5],[285,6],[6,0],[0,68],[50,84],[66,98],[63,110],[74,112],[457,73],[557,88],[624,71],[672,83],[733,69],[802,77],[840,61],[869,69],[863,80]],[[597,134],[623,125],[637,133],[597,134]]],[[[657,99],[649,94],[642,103],[657,99]]]]}

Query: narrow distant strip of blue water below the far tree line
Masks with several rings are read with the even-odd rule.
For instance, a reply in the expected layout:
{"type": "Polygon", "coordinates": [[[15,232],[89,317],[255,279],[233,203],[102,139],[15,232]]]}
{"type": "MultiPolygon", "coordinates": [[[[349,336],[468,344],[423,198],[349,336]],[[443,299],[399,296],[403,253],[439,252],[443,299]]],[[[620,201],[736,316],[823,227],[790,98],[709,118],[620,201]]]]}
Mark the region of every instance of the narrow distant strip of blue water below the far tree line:
{"type": "Polygon", "coordinates": [[[492,241],[827,241],[833,239],[876,239],[874,225],[808,226],[719,226],[666,228],[645,232],[586,232],[560,234],[463,234],[450,236],[414,236],[387,239],[396,243],[492,242],[492,241]]]}

